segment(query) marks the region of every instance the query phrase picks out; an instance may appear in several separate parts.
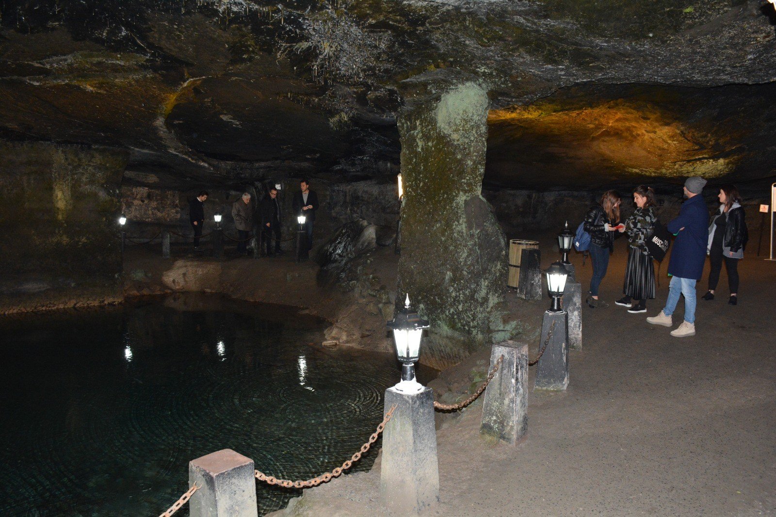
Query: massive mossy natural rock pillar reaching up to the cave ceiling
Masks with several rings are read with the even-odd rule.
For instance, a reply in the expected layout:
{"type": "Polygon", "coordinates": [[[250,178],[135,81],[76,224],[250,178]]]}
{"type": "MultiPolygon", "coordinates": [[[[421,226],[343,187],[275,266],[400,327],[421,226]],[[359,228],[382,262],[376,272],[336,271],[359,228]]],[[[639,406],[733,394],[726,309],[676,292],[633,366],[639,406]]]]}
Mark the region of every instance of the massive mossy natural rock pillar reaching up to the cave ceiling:
{"type": "Polygon", "coordinates": [[[481,194],[487,91],[454,68],[400,83],[401,255],[398,303],[409,293],[431,322],[421,361],[459,362],[494,329],[507,283],[507,245],[481,194]]]}

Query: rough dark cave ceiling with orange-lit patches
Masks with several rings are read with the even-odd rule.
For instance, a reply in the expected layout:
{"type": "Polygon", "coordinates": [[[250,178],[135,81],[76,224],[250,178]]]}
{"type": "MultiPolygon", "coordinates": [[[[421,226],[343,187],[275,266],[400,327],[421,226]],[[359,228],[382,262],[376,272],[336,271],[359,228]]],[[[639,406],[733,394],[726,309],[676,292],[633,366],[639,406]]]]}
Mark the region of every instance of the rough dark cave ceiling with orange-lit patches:
{"type": "MultiPolygon", "coordinates": [[[[770,11],[769,11],[770,9],[770,11]]],[[[397,85],[490,91],[486,184],[774,176],[776,16],[740,0],[4,0],[0,138],[120,147],[125,179],[388,181],[397,85]]]]}

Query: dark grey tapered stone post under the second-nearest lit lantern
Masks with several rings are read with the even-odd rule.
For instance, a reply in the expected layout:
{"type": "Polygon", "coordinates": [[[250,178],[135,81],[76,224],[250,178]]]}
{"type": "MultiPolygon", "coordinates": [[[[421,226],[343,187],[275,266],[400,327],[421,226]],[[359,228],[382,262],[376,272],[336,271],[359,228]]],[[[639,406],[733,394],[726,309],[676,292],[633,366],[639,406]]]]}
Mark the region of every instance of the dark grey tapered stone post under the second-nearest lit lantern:
{"type": "Polygon", "coordinates": [[[541,351],[546,341],[550,328],[553,328],[549,336],[547,348],[536,365],[536,378],[534,389],[536,390],[565,390],[569,385],[569,348],[566,338],[566,312],[544,313],[542,322],[542,339],[539,342],[541,351]],[[553,327],[553,323],[555,324],[553,327]]]}

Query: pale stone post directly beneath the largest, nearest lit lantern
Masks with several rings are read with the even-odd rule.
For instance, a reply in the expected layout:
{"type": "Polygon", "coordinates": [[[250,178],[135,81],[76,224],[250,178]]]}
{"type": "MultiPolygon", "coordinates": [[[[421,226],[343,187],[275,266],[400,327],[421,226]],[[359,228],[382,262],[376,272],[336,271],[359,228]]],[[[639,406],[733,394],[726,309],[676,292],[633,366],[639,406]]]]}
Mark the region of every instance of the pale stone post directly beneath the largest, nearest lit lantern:
{"type": "Polygon", "coordinates": [[[414,515],[439,501],[439,470],[434,428],[434,392],[386,390],[385,411],[396,409],[383,431],[380,491],[396,515],[414,515]]]}

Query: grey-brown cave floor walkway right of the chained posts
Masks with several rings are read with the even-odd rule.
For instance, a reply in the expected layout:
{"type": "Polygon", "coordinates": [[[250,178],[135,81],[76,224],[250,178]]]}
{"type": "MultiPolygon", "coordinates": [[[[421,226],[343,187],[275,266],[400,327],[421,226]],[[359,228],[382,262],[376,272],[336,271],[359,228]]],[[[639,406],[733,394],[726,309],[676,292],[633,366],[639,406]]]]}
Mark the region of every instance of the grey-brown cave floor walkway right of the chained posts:
{"type": "MultiPolygon", "coordinates": [[[[601,286],[610,302],[620,297],[625,270],[624,242],[617,246],[601,286]]],[[[665,302],[667,263],[646,314],[613,303],[584,307],[584,346],[570,353],[570,385],[529,395],[520,445],[488,446],[479,438],[481,401],[445,418],[438,430],[440,503],[424,515],[774,515],[776,262],[750,250],[740,264],[739,304],[726,303],[723,273],[717,299],[698,300],[694,337],[672,338],[670,328],[645,321],[665,302]]],[[[556,253],[542,248],[545,263],[556,253]]],[[[587,290],[591,264],[581,266],[579,255],[572,260],[587,290]]],[[[699,296],[707,275],[708,265],[699,296]]],[[[534,357],[546,302],[510,300],[528,320],[525,341],[534,357]]],[[[677,324],[683,307],[684,300],[677,324]]],[[[475,354],[456,370],[489,355],[475,354]]],[[[308,490],[279,514],[385,515],[379,459],[369,473],[308,490]]]]}

